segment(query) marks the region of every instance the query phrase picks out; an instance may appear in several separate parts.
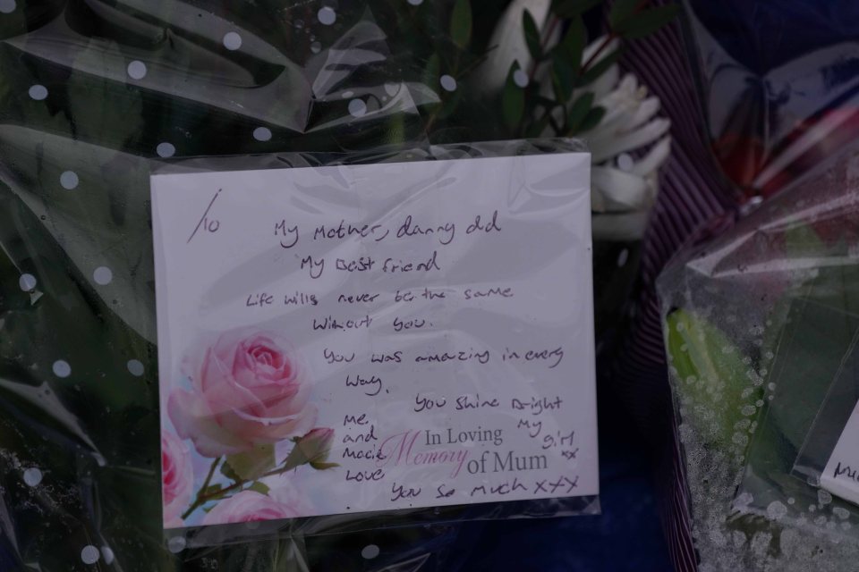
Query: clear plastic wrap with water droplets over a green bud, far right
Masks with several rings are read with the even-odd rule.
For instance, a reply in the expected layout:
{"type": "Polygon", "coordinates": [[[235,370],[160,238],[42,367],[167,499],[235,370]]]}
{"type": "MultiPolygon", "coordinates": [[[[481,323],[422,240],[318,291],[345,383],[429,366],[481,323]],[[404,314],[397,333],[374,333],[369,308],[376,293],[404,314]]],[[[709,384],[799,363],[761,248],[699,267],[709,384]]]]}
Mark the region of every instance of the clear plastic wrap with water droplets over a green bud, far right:
{"type": "Polygon", "coordinates": [[[859,553],[856,507],[795,474],[859,328],[857,168],[846,149],[659,279],[704,571],[840,570],[859,553]]]}

